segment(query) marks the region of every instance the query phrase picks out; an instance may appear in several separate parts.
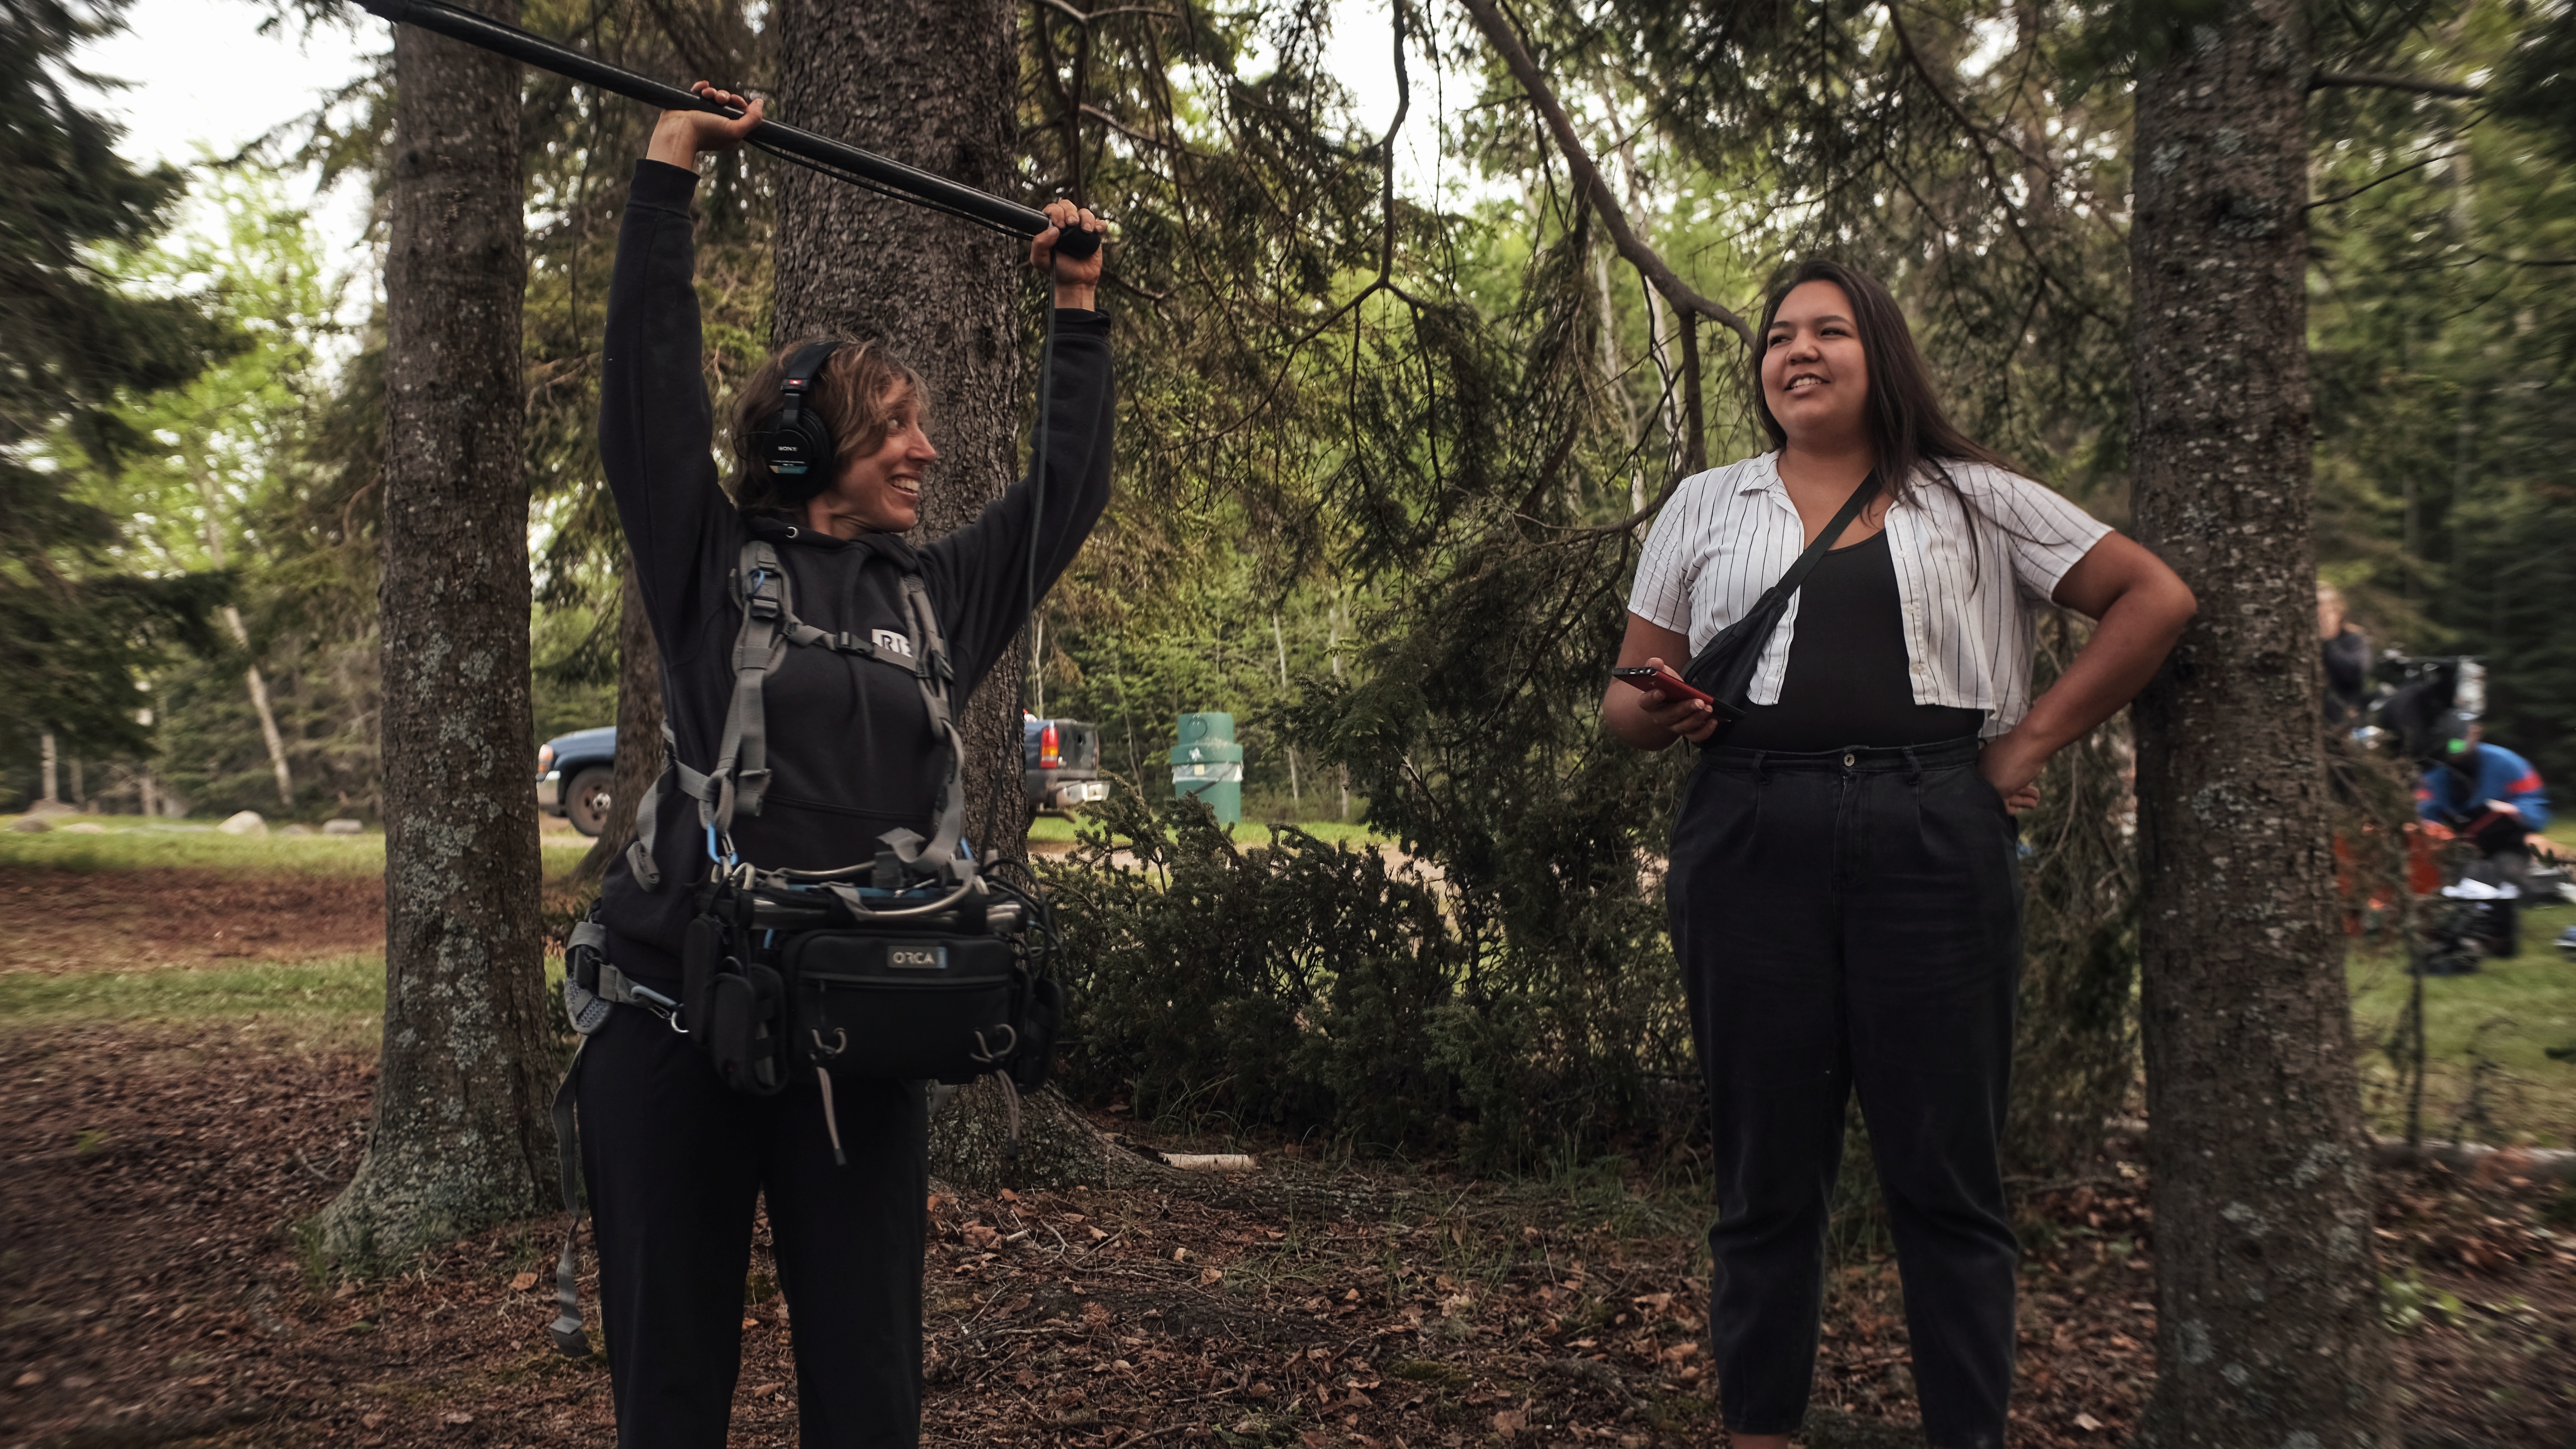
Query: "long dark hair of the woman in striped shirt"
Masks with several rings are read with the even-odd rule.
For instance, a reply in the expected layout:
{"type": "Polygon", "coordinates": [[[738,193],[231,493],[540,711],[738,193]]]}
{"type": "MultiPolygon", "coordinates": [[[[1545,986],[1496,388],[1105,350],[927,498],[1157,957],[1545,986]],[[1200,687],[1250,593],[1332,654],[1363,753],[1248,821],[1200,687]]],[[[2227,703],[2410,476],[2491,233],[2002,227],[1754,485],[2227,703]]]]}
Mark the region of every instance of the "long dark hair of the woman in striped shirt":
{"type": "Polygon", "coordinates": [[[1852,327],[1860,332],[1860,353],[1870,360],[1870,396],[1862,427],[1870,430],[1870,443],[1878,448],[1878,486],[1891,499],[1911,499],[1927,463],[1932,463],[1929,471],[1950,489],[1950,497],[1960,507],[1968,507],[1968,499],[1940,463],[1991,463],[2007,474],[2020,474],[2009,458],[1950,425],[1950,417],[1940,409],[1940,394],[1932,391],[1932,368],[1924,365],[1922,350],[1914,347],[1914,329],[1906,327],[1906,314],[1896,306],[1896,296],[1870,273],[1826,257],[1798,263],[1798,270],[1788,273],[1788,281],[1775,286],[1770,301],[1762,304],[1762,329],[1754,332],[1754,417],[1762,420],[1762,432],[1770,435],[1772,448],[1788,445],[1788,430],[1780,427],[1780,420],[1770,412],[1770,399],[1762,396],[1762,355],[1770,353],[1770,327],[1780,317],[1780,304],[1788,301],[1790,291],[1811,281],[1829,281],[1842,288],[1842,296],[1852,299],[1852,327]]]}

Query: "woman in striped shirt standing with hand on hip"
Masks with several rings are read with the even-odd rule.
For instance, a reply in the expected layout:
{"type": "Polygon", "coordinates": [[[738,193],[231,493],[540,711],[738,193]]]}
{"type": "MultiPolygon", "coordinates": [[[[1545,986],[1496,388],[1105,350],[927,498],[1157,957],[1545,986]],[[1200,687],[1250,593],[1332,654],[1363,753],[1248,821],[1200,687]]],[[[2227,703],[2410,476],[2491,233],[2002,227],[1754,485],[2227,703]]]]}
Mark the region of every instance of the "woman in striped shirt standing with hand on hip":
{"type": "Polygon", "coordinates": [[[1775,450],[1664,504],[1620,664],[1680,669],[1855,492],[1868,502],[1762,646],[1754,708],[1723,739],[1695,700],[1602,697],[1638,749],[1705,746],[1667,891],[1716,1145],[1721,1410],[1736,1449],[1785,1446],[1806,1416],[1857,1091],[1924,1436],[1999,1446],[2017,1261],[1996,1156],[2022,968],[2012,816],[2038,803],[2050,754],[2146,685],[2192,592],[1960,435],[1873,278],[1801,265],[1762,314],[1757,373],[1775,450]],[[2048,602],[2097,628],[2032,700],[2048,602]]]}

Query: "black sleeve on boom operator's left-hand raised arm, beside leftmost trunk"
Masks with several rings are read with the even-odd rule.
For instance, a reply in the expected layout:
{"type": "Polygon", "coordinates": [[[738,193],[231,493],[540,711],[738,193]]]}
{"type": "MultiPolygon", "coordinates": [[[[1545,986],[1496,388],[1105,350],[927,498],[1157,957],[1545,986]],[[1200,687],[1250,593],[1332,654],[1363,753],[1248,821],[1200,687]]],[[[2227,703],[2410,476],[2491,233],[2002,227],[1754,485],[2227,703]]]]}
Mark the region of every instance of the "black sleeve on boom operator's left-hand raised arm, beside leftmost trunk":
{"type": "Polygon", "coordinates": [[[696,237],[698,172],[636,162],[600,347],[600,466],[636,558],[644,613],[667,659],[693,651],[701,592],[737,546],[732,499],[716,486],[716,420],[706,401],[696,237]]]}

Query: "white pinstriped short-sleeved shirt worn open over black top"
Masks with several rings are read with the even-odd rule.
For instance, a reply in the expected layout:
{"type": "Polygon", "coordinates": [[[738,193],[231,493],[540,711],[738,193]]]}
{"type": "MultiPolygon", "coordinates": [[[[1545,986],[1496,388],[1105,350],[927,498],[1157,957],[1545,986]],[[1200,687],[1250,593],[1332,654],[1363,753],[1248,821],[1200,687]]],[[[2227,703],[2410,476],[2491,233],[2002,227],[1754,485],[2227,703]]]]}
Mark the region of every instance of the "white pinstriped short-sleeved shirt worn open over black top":
{"type": "MultiPolygon", "coordinates": [[[[2110,528],[2020,474],[1986,463],[1942,466],[1973,510],[1960,512],[1929,468],[1909,502],[1888,507],[1906,667],[1917,705],[1986,710],[1981,734],[1994,739],[2030,713],[2038,610],[2110,528]]],[[[1646,535],[1628,613],[1687,633],[1698,654],[1744,618],[1803,548],[1806,522],[1780,484],[1777,453],[1695,474],[1646,535]]],[[[1752,682],[1757,705],[1780,703],[1798,602],[1790,597],[1762,649],[1752,682]]]]}

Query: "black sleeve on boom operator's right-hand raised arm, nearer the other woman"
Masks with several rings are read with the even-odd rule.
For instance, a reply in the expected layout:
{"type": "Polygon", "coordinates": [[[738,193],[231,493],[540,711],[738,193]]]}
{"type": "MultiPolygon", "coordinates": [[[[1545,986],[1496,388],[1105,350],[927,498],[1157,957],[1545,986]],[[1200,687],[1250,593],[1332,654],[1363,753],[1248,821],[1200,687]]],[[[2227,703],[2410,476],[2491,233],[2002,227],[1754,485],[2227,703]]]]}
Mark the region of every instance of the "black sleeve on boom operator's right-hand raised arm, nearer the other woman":
{"type": "Polygon", "coordinates": [[[1048,378],[1046,486],[1036,474],[994,499],[981,517],[930,543],[922,571],[948,631],[963,700],[1010,649],[1028,618],[1028,540],[1038,538],[1038,597],[1072,566],[1110,502],[1110,319],[1056,311],[1056,363],[1048,378]]]}

